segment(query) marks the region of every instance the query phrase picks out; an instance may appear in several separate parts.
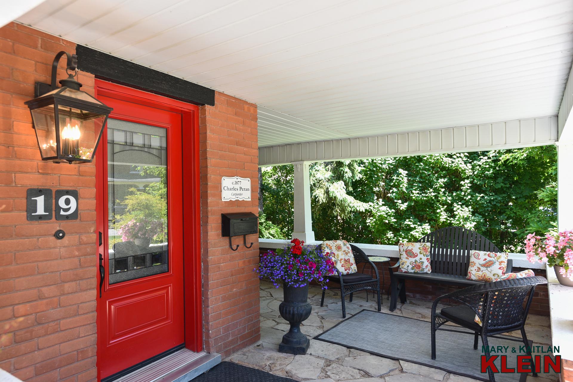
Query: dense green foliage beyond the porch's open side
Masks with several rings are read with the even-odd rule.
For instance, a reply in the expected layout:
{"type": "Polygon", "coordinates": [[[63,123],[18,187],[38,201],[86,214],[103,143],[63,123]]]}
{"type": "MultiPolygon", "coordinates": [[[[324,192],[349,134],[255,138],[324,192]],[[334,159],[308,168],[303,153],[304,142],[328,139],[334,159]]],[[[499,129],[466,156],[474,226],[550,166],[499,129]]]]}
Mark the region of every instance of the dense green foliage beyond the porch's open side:
{"type": "MultiPolygon", "coordinates": [[[[266,221],[284,237],[293,227],[293,166],[262,171],[266,221]]],[[[556,221],[556,149],[315,163],[311,166],[317,240],[395,245],[447,226],[475,230],[507,251],[556,221]]]]}

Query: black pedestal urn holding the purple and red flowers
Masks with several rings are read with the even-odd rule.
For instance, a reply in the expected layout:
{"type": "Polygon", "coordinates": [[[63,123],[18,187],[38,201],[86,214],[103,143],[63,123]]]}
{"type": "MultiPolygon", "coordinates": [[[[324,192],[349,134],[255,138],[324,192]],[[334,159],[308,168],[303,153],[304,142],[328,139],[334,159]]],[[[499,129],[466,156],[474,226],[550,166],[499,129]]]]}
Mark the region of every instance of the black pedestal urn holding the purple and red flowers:
{"type": "Polygon", "coordinates": [[[297,288],[284,284],[282,288],[284,289],[284,301],[278,306],[278,312],[281,313],[282,318],[291,324],[291,329],[282,336],[278,351],[290,354],[306,354],[311,342],[307,336],[300,332],[300,324],[312,312],[312,306],[308,302],[308,285],[297,288]]]}

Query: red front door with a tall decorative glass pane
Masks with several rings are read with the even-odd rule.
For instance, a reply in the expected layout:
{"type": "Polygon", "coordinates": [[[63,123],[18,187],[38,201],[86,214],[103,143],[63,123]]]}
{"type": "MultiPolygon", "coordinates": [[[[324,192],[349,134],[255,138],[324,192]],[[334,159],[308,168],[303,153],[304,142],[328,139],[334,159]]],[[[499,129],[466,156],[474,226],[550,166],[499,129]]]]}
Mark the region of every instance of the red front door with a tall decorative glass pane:
{"type": "Polygon", "coordinates": [[[182,115],[129,94],[97,96],[113,108],[96,153],[100,380],[185,342],[182,115]]]}

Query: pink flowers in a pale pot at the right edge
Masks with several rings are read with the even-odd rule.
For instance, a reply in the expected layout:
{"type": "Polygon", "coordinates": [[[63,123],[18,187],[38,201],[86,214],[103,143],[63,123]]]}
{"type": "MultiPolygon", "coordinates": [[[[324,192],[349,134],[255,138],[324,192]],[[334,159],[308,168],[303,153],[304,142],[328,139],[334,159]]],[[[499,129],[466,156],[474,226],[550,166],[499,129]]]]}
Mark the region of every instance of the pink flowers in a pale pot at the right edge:
{"type": "Polygon", "coordinates": [[[532,263],[539,261],[555,267],[559,283],[573,286],[573,231],[545,234],[545,238],[529,234],[525,239],[525,255],[532,263]]]}

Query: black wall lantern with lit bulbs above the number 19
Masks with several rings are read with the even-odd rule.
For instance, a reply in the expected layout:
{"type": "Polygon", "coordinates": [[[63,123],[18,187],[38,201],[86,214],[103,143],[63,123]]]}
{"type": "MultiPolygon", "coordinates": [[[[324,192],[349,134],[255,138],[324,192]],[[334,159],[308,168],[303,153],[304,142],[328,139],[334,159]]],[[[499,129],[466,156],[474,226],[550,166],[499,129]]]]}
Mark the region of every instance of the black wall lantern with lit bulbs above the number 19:
{"type": "Polygon", "coordinates": [[[92,162],[101,132],[113,110],[80,90],[77,56],[67,52],[56,54],[52,63],[52,85],[36,82],[36,98],[26,101],[30,108],[38,147],[43,160],[53,162],[92,162]],[[58,62],[68,58],[68,78],[56,84],[58,62]]]}

